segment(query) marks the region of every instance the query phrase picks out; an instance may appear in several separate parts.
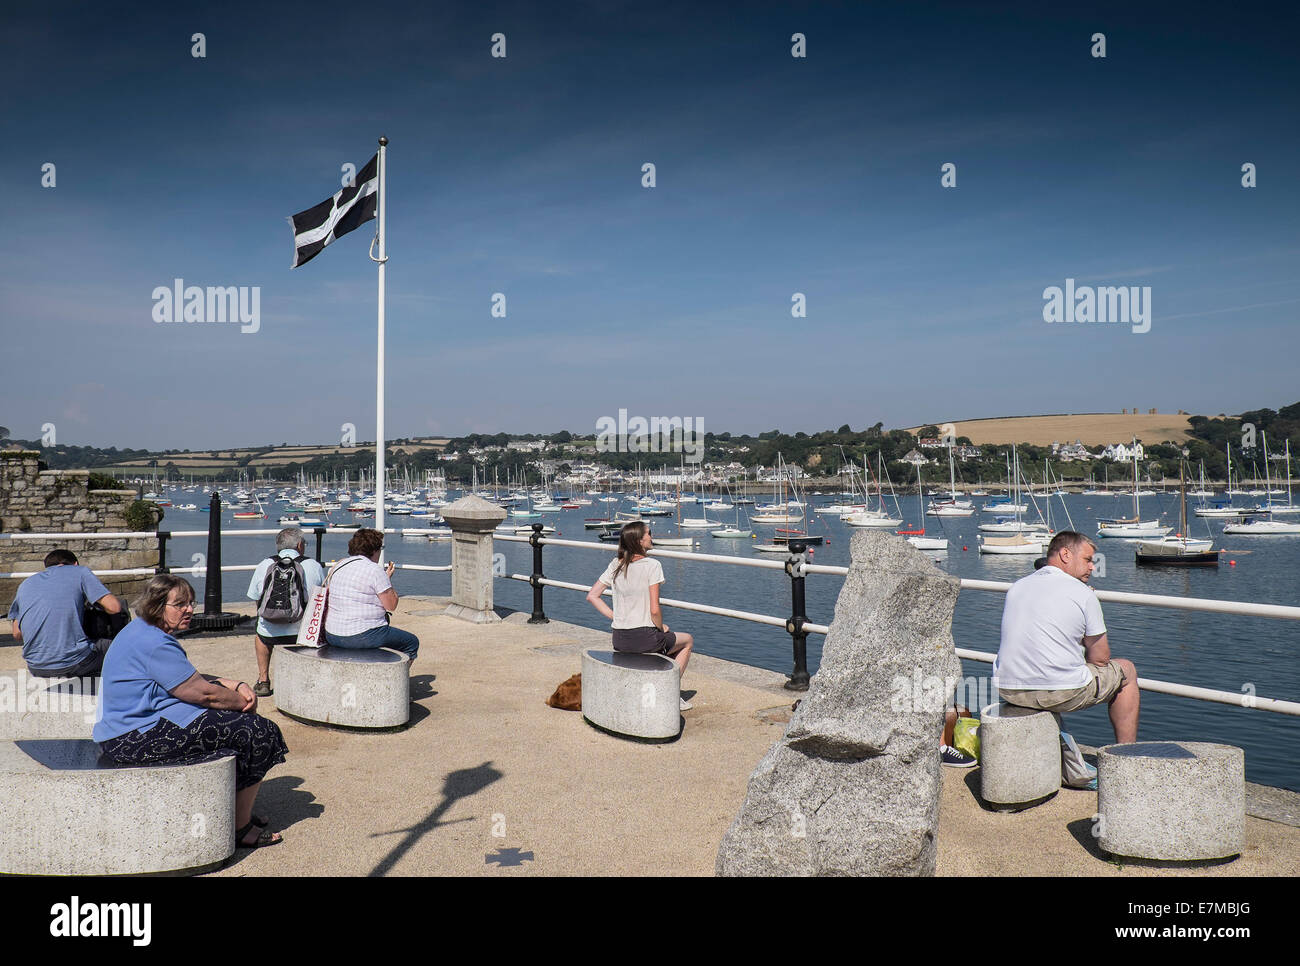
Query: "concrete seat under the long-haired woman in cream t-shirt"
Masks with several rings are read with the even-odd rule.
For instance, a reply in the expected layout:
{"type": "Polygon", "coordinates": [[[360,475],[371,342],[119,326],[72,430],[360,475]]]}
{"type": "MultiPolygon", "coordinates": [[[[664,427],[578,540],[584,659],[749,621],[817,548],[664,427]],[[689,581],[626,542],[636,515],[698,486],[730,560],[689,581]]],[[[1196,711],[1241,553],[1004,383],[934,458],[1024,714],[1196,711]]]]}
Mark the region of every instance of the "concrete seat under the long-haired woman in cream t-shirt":
{"type": "Polygon", "coordinates": [[[582,716],[636,738],[672,738],[681,731],[681,675],[662,654],[582,653],[582,716]]]}

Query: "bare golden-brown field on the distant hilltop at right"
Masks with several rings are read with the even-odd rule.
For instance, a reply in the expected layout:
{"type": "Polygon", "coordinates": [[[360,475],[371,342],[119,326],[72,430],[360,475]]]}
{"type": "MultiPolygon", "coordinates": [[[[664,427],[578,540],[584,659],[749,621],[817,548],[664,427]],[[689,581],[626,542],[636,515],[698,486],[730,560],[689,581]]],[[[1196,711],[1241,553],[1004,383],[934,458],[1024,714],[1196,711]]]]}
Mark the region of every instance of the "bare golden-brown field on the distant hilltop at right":
{"type": "MultiPolygon", "coordinates": [[[[953,436],[967,436],[976,446],[1034,443],[1050,446],[1075,439],[1089,449],[1108,443],[1128,442],[1138,437],[1144,443],[1183,443],[1191,436],[1191,416],[1184,413],[1079,412],[1053,416],[1001,416],[996,419],[950,420],[953,436]]],[[[932,425],[941,426],[941,423],[932,425]]],[[[922,426],[909,428],[915,433],[922,426]]]]}

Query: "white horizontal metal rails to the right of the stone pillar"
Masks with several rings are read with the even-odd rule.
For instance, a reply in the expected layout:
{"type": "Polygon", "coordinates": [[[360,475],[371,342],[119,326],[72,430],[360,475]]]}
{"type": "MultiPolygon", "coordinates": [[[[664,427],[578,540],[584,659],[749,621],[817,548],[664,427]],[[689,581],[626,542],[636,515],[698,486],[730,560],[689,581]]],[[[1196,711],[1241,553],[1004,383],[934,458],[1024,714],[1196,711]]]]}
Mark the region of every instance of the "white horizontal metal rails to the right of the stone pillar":
{"type": "MultiPolygon", "coordinates": [[[[530,536],[506,536],[495,534],[495,540],[511,542],[511,543],[530,543],[530,536]]],[[[558,540],[554,537],[540,537],[538,543],[549,546],[568,546],[577,547],[581,550],[602,550],[604,553],[618,551],[616,543],[593,543],[590,541],[578,540],[558,540]]],[[[776,560],[754,560],[749,558],[734,558],[725,554],[697,554],[690,551],[675,551],[675,550],[651,550],[650,556],[666,556],[682,560],[705,560],[710,563],[722,563],[732,567],[760,567],[764,569],[785,569],[785,563],[779,563],[776,560]]],[[[835,567],[828,564],[803,564],[805,573],[826,573],[831,576],[846,576],[849,573],[848,567],[835,567]]],[[[526,573],[508,573],[504,575],[508,580],[517,580],[523,582],[532,582],[532,576],[526,573]]],[[[588,593],[590,590],[589,584],[573,584],[563,580],[552,580],[550,577],[542,577],[537,581],[542,586],[554,586],[563,590],[578,590],[581,593],[588,593]]],[[[961,589],[963,590],[985,590],[992,593],[1005,594],[1011,589],[1011,582],[997,581],[997,580],[972,580],[967,577],[959,579],[961,589]]],[[[1097,590],[1093,588],[1098,599],[1113,601],[1117,603],[1131,603],[1148,607],[1166,607],[1166,608],[1180,608],[1180,610],[1193,610],[1193,611],[1208,611],[1216,614],[1234,614],[1243,616],[1256,616],[1256,618],[1279,618],[1283,620],[1300,620],[1300,607],[1292,607],[1286,605],[1274,603],[1253,603],[1249,601],[1214,601],[1210,598],[1199,597],[1169,597],[1164,594],[1135,594],[1122,590],[1097,590]]],[[[606,594],[610,594],[606,590],[606,594]]],[[[740,611],[727,607],[715,607],[706,603],[694,603],[692,601],[676,601],[671,598],[660,598],[659,603],[666,607],[676,607],[679,610],[696,611],[698,614],[714,614],[723,618],[732,618],[734,620],[748,620],[754,624],[767,624],[770,627],[780,627],[788,629],[788,621],[784,618],[776,618],[768,614],[754,614],[751,611],[740,611]]],[[[831,628],[826,624],[812,624],[805,621],[802,624],[802,631],[814,634],[827,634],[831,628]]],[[[956,647],[957,657],[965,658],[966,660],[978,660],[985,664],[992,664],[996,654],[988,651],[971,650],[968,647],[956,647]]],[[[1197,701],[1209,701],[1213,703],[1227,705],[1232,707],[1247,707],[1256,709],[1260,711],[1275,711],[1278,714],[1300,716],[1300,702],[1296,701],[1282,701],[1279,698],[1262,698],[1253,694],[1240,694],[1226,690],[1218,690],[1214,688],[1200,688],[1191,684],[1179,684],[1178,681],[1160,681],[1150,677],[1139,677],[1138,686],[1143,690],[1154,692],[1160,694],[1173,694],[1176,697],[1193,698],[1197,701]]]]}

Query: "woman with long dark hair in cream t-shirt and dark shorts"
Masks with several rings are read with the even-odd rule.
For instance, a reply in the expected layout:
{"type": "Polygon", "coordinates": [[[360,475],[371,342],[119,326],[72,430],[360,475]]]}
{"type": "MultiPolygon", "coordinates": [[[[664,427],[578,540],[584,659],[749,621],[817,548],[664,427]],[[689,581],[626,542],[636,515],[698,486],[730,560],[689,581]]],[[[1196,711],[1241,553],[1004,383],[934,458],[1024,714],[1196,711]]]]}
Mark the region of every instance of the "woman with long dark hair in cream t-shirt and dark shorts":
{"type": "MultiPolygon", "coordinates": [[[[650,528],[636,520],[619,532],[619,555],[610,560],[601,579],[592,585],[586,601],[608,618],[614,629],[614,650],[637,654],[663,654],[677,662],[686,673],[694,638],[668,629],[659,610],[659,585],[663,567],[646,556],[654,546],[650,528]],[[614,608],[604,602],[604,589],[614,590],[614,608]]],[[[681,710],[690,709],[682,698],[681,710]]]]}

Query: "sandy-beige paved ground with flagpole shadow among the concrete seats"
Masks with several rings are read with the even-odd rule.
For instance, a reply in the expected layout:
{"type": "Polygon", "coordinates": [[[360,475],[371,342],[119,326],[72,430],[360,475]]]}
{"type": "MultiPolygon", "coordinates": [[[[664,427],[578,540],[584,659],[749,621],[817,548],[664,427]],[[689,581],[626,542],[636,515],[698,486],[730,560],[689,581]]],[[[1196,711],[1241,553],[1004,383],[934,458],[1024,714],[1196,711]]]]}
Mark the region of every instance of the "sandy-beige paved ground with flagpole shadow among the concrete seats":
{"type": "MultiPolygon", "coordinates": [[[[307,725],[263,698],[290,757],[257,811],[286,841],[238,852],[214,875],[711,875],[749,775],[784,729],[796,697],[784,677],[697,655],[681,738],[624,741],[543,703],[608,634],[521,614],[474,625],[439,616],[446,603],[403,598],[396,616],[421,641],[407,731],[307,725]]],[[[185,647],[200,671],[256,676],[251,633],[185,647]]],[[[17,647],[0,649],[0,668],[20,666],[17,647]]],[[[1096,793],[1062,789],[1004,815],[980,807],[978,788],[978,770],[944,770],[940,875],[1300,875],[1300,828],[1279,822],[1248,818],[1232,862],[1119,865],[1091,835],[1096,793]]],[[[1280,793],[1282,811],[1296,814],[1297,798],[1280,793]]]]}

